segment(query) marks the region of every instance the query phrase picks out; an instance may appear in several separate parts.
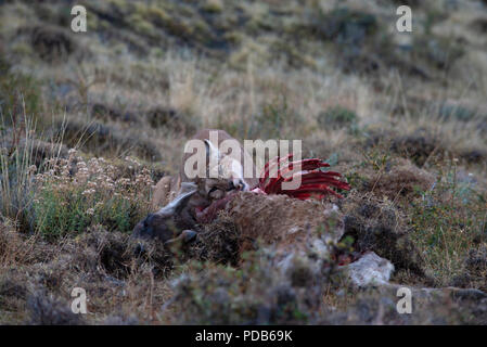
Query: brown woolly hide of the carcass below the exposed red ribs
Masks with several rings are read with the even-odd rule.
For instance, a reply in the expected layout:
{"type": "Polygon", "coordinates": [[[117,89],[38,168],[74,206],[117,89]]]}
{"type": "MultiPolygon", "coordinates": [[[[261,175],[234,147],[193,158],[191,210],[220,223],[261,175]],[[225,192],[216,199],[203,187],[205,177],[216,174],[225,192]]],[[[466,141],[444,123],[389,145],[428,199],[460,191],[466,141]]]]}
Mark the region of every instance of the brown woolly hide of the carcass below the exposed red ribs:
{"type": "Polygon", "coordinates": [[[227,211],[240,231],[241,252],[252,249],[253,242],[260,239],[264,245],[274,245],[283,254],[304,250],[308,243],[317,252],[328,253],[328,244],[336,243],[344,232],[337,208],[315,200],[239,192],[227,211]]]}

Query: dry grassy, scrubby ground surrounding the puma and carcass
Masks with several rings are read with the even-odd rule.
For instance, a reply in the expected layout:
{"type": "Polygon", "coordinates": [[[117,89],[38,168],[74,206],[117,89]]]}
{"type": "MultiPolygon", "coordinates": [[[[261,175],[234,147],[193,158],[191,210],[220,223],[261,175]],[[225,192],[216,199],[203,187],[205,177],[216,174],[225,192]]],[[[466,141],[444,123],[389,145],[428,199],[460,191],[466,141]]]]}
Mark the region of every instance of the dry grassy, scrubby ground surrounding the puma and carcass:
{"type": "Polygon", "coordinates": [[[486,290],[484,10],[411,2],[411,35],[396,1],[87,0],[84,35],[61,1],[0,5],[0,321],[465,322],[448,300],[398,320],[387,293],[329,278],[310,297],[265,253],[241,262],[229,216],[176,254],[128,237],[195,129],[302,139],[354,188],[355,250],[392,259],[397,283],[486,290]]]}

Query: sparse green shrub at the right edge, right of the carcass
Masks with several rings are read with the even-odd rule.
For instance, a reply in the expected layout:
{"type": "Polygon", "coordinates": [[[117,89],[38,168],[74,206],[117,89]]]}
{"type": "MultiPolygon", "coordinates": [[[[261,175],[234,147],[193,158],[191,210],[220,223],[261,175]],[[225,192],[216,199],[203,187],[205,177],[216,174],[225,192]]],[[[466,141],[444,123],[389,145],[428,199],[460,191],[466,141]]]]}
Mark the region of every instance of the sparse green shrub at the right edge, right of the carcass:
{"type": "Polygon", "coordinates": [[[416,246],[437,285],[463,271],[463,259],[485,229],[486,196],[457,177],[453,163],[439,172],[435,188],[412,202],[409,216],[416,246]]]}

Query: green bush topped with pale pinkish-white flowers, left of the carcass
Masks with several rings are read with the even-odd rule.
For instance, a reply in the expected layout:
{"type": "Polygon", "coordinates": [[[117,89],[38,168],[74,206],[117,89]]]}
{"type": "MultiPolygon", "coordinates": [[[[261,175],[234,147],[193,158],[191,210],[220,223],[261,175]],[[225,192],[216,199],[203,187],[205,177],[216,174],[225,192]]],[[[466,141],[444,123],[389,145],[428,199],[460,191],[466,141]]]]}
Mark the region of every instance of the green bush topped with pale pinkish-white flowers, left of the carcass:
{"type": "Polygon", "coordinates": [[[35,177],[35,227],[46,237],[79,233],[102,224],[128,232],[149,211],[153,180],[146,168],[131,158],[134,179],[118,178],[103,158],[85,162],[76,150],[67,159],[52,159],[51,169],[35,177]]]}

